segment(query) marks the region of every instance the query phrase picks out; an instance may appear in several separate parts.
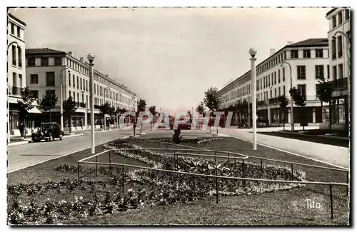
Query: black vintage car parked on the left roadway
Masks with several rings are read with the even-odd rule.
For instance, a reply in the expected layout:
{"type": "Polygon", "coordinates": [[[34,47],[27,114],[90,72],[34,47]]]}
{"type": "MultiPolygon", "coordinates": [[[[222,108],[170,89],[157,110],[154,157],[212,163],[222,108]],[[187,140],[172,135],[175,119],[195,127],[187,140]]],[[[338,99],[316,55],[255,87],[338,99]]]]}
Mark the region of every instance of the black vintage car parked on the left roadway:
{"type": "Polygon", "coordinates": [[[53,141],[54,138],[59,138],[62,140],[64,137],[64,131],[61,131],[61,127],[59,123],[42,123],[41,128],[32,133],[31,135],[32,141],[53,141]]]}

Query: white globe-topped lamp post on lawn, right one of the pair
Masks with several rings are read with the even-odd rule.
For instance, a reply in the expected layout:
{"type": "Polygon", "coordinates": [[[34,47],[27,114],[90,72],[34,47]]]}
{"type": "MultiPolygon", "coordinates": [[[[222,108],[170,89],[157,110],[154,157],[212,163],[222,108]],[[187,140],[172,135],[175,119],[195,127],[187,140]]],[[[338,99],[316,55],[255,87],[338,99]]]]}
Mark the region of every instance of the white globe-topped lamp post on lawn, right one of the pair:
{"type": "Polygon", "coordinates": [[[253,120],[253,151],[256,151],[256,49],[249,49],[251,55],[251,81],[253,82],[252,120],[253,120]]]}

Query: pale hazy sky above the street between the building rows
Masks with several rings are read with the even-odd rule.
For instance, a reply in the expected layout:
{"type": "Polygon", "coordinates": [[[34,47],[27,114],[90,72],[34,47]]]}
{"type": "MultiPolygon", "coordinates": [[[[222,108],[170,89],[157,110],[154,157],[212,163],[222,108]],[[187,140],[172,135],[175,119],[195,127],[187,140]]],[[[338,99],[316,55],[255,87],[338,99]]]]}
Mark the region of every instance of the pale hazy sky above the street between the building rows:
{"type": "MultiPolygon", "coordinates": [[[[148,106],[188,111],[288,41],[326,38],[328,8],[16,9],[26,48],[95,54],[96,70],[148,106]]],[[[257,63],[257,64],[258,64],[257,63]]]]}

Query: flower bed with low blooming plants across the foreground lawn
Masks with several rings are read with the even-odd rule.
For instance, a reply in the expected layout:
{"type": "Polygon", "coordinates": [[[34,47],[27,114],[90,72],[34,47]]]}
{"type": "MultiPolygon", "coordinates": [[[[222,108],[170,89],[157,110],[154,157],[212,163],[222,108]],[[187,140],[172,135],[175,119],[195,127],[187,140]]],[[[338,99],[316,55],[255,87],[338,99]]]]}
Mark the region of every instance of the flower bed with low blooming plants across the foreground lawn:
{"type": "MultiPolygon", "coordinates": [[[[110,143],[106,148],[141,148],[131,143],[110,143]]],[[[144,162],[154,168],[175,170],[176,160],[172,154],[164,154],[146,149],[136,151],[117,151],[119,156],[126,156],[144,162]]],[[[218,176],[241,176],[260,178],[261,166],[256,163],[214,161],[212,158],[190,156],[177,157],[178,171],[205,173],[218,176]]],[[[77,166],[64,163],[54,168],[56,172],[76,173],[77,166]]],[[[94,172],[94,168],[81,168],[81,173],[94,172]]],[[[186,174],[164,173],[148,169],[126,171],[126,186],[151,186],[151,190],[129,189],[121,193],[121,168],[119,166],[101,166],[99,174],[106,181],[81,178],[44,183],[19,184],[8,186],[11,198],[8,208],[10,224],[51,224],[68,218],[103,215],[143,207],[196,201],[216,194],[216,178],[195,177],[186,174]],[[100,195],[99,193],[104,193],[100,195]],[[70,194],[71,193],[71,194],[70,194]],[[79,197],[73,197],[73,194],[79,197]],[[69,197],[69,196],[71,197],[69,197]],[[46,196],[56,196],[55,198],[46,196]],[[67,198],[65,198],[67,196],[67,198]],[[50,200],[51,198],[51,200],[50,200]],[[21,201],[24,200],[24,201],[21,201]]],[[[304,174],[294,171],[294,180],[303,181],[304,174]]],[[[263,166],[263,177],[270,179],[291,179],[291,171],[281,166],[263,166]]],[[[259,194],[269,191],[286,190],[300,187],[301,184],[256,183],[232,181],[218,178],[219,195],[259,194]]]]}

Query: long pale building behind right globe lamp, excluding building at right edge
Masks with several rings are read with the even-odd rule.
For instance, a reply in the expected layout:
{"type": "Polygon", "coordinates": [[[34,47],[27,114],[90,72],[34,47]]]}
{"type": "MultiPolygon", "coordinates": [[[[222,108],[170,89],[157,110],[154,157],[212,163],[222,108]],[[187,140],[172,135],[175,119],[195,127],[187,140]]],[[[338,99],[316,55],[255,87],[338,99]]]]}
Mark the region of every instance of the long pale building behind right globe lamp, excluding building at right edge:
{"type": "MultiPolygon", "coordinates": [[[[292,79],[293,87],[306,99],[306,116],[302,114],[301,107],[294,105],[294,123],[321,123],[321,101],[316,96],[316,88],[318,79],[322,77],[329,78],[328,39],[288,42],[278,51],[271,49],[270,56],[256,65],[258,118],[263,121],[267,119],[271,125],[291,123],[291,109],[288,107],[287,117],[284,117],[283,112],[279,111],[278,96],[285,95],[291,99],[289,90],[292,79]]],[[[223,103],[221,108],[235,106],[239,100],[246,100],[251,106],[251,86],[251,71],[224,86],[219,91],[223,103]]]]}

